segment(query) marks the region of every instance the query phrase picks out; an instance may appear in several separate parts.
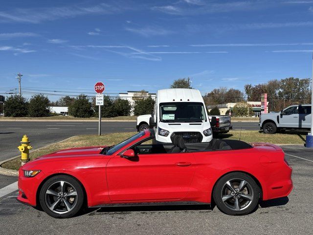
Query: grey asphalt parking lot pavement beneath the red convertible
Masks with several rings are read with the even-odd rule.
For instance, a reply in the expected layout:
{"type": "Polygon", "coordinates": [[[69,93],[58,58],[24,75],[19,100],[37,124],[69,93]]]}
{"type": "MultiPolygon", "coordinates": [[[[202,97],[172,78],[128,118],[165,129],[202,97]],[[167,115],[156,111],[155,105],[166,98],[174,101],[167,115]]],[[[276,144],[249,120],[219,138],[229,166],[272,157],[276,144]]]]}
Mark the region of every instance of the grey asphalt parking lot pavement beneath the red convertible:
{"type": "Polygon", "coordinates": [[[0,199],[0,229],[5,234],[312,234],[313,149],[282,146],[293,168],[288,198],[263,202],[245,216],[229,216],[203,206],[122,207],[84,211],[54,219],[22,205],[12,192],[0,199]],[[288,154],[288,155],[287,155],[288,154]],[[292,155],[292,156],[291,156],[292,155]],[[300,158],[298,158],[300,157],[300,158]]]}

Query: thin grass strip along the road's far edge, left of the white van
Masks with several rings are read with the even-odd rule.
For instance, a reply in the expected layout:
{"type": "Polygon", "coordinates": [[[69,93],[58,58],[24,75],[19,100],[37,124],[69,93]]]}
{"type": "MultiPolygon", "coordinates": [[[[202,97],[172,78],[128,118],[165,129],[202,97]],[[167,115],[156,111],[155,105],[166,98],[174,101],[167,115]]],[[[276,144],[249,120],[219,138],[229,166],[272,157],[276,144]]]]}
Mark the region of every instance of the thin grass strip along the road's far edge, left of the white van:
{"type": "MultiPolygon", "coordinates": [[[[136,116],[119,116],[114,118],[102,118],[102,120],[136,120],[136,116]]],[[[7,119],[45,119],[45,120],[98,120],[98,118],[74,118],[72,116],[51,116],[51,117],[43,117],[43,118],[30,118],[30,117],[21,117],[21,118],[12,118],[12,117],[0,117],[0,120],[7,119]]]]}

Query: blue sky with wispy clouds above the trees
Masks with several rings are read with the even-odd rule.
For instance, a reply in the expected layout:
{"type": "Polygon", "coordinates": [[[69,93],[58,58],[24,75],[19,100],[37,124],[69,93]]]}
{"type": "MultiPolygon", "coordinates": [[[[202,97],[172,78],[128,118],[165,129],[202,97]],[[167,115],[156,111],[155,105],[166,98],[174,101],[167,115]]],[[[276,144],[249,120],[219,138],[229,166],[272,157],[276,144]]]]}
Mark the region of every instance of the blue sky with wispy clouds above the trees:
{"type": "Polygon", "coordinates": [[[1,0],[0,93],[18,72],[26,97],[97,81],[112,95],[156,92],[187,76],[203,93],[243,90],[311,77],[312,49],[313,1],[1,0]]]}

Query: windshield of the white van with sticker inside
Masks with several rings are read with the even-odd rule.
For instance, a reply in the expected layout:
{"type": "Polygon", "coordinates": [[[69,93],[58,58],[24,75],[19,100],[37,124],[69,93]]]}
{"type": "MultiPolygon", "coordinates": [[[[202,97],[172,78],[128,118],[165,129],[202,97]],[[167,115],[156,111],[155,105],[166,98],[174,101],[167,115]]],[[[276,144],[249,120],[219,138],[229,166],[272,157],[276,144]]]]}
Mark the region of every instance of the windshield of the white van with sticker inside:
{"type": "Polygon", "coordinates": [[[201,102],[160,103],[162,122],[202,122],[206,121],[204,106],[201,102]]]}

